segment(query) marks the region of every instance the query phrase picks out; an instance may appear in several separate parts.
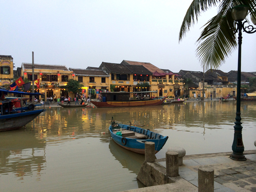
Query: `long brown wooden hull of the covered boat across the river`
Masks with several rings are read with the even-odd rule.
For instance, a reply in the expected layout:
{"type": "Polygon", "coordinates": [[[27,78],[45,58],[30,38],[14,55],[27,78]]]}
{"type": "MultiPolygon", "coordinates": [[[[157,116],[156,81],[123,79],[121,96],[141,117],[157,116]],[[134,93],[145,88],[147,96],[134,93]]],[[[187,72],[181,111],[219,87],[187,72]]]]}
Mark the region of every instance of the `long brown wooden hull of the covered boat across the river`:
{"type": "Polygon", "coordinates": [[[163,104],[165,98],[158,100],[144,100],[144,101],[110,101],[97,102],[91,101],[96,107],[140,107],[140,106],[155,106],[163,104]]]}

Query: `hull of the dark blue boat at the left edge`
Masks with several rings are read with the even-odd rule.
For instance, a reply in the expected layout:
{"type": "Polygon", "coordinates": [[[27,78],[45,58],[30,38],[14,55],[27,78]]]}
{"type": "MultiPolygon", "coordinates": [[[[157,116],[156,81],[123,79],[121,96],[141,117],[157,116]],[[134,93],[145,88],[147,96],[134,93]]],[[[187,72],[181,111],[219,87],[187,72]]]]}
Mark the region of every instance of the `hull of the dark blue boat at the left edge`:
{"type": "Polygon", "coordinates": [[[0,131],[20,129],[35,119],[45,109],[0,115],[0,131]]]}

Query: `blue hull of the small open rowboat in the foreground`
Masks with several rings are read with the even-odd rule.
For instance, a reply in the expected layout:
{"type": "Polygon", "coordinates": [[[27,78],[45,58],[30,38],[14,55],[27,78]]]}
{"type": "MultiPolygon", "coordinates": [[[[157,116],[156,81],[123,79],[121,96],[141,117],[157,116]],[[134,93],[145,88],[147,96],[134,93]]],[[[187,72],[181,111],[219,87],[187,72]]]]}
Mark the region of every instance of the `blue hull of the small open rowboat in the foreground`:
{"type": "Polygon", "coordinates": [[[122,137],[114,134],[113,127],[110,125],[109,132],[112,139],[116,142],[117,145],[120,145],[124,149],[137,152],[139,154],[145,154],[145,142],[154,142],[155,143],[155,154],[160,151],[168,140],[168,136],[163,136],[152,132],[150,130],[145,130],[140,127],[129,126],[124,124],[119,124],[119,127],[122,130],[130,130],[147,136],[147,139],[132,139],[129,137],[122,137]],[[123,139],[125,138],[125,139],[123,139]]]}

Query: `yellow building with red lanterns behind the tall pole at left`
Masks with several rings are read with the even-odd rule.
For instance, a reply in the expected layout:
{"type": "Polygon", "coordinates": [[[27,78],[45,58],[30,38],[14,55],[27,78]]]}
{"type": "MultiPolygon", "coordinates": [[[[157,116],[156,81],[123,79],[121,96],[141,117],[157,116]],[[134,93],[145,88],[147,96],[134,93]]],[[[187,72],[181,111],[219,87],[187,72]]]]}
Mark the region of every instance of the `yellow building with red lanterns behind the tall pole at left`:
{"type": "MultiPolygon", "coordinates": [[[[21,76],[32,81],[32,63],[22,63],[21,76]]],[[[74,78],[72,71],[68,70],[64,65],[42,65],[34,64],[34,80],[40,79],[40,88],[35,84],[35,92],[45,93],[45,97],[54,98],[56,96],[72,96],[66,88],[68,80],[74,78]]]]}

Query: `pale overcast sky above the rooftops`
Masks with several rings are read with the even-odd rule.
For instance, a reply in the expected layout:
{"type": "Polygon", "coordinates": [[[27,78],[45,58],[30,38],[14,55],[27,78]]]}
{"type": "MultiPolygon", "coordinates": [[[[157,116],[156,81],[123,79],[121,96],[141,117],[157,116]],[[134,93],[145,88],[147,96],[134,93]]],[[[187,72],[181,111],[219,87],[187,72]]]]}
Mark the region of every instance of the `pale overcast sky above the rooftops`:
{"type": "MultiPolygon", "coordinates": [[[[99,67],[102,62],[150,62],[173,72],[203,71],[196,40],[217,8],[202,13],[179,42],[191,0],[1,0],[0,55],[22,62],[99,67]]],[[[256,27],[256,26],[255,26],[256,27]]],[[[243,33],[242,71],[256,71],[256,33],[243,33]]],[[[218,68],[237,70],[238,50],[218,68]]],[[[15,69],[15,68],[14,68],[15,69]]]]}

